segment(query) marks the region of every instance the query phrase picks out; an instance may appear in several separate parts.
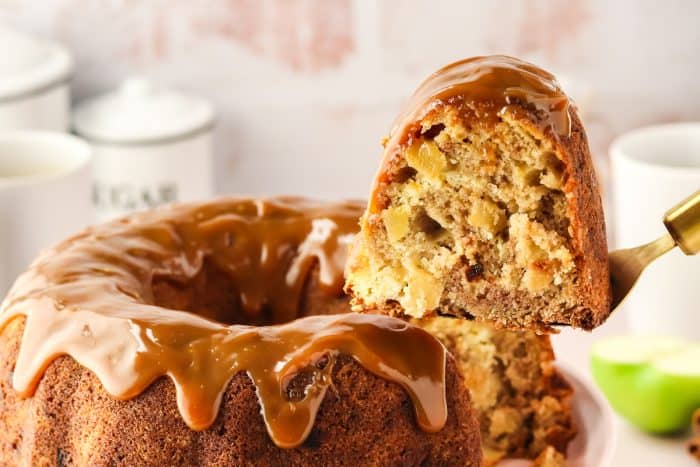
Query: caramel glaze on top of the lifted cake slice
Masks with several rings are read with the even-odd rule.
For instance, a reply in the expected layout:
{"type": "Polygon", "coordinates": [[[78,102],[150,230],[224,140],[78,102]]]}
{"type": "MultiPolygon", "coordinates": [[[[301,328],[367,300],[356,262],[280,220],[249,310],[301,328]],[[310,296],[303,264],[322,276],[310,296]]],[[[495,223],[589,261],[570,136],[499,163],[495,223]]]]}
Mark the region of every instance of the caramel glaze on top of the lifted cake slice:
{"type": "MultiPolygon", "coordinates": [[[[421,134],[422,120],[443,106],[457,109],[467,124],[495,124],[510,114],[532,121],[554,138],[568,138],[571,133],[572,104],[551,73],[506,55],[461,60],[430,75],[399,114],[385,143],[373,192],[377,184],[388,181],[382,177],[393,173],[389,166],[395,156],[421,134]]],[[[378,200],[370,203],[371,212],[381,209],[378,200]]]]}

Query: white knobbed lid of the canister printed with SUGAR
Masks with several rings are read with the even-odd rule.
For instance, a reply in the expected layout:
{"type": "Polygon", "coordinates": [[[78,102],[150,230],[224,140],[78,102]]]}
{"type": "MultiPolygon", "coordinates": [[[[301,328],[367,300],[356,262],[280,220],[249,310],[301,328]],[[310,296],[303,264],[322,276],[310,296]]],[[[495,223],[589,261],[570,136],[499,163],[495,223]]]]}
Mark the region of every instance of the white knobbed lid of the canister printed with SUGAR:
{"type": "Polygon", "coordinates": [[[73,113],[75,131],[92,141],[149,144],[186,138],[214,123],[212,105],[201,98],[129,78],[115,91],[88,99],[73,113]]]}

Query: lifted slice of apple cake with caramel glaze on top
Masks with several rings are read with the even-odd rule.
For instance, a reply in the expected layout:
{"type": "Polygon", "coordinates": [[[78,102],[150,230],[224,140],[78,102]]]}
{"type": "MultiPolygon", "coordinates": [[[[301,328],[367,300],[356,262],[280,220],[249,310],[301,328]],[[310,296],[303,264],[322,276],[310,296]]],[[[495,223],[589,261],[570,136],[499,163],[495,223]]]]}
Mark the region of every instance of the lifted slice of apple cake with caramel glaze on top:
{"type": "Polygon", "coordinates": [[[392,129],[346,290],[355,310],[592,329],[607,261],[573,104],[534,65],[476,57],[431,75],[392,129]]]}

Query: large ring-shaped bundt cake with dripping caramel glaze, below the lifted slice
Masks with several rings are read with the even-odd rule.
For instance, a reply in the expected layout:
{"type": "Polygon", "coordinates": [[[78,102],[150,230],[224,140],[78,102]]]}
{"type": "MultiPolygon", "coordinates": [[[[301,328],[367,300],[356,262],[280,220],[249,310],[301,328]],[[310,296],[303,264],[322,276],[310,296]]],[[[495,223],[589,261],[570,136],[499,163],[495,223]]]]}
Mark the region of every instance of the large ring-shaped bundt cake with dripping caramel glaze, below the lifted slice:
{"type": "Polygon", "coordinates": [[[360,213],[222,199],[44,251],[0,307],[3,465],[481,465],[436,338],[324,316],[360,213]]]}

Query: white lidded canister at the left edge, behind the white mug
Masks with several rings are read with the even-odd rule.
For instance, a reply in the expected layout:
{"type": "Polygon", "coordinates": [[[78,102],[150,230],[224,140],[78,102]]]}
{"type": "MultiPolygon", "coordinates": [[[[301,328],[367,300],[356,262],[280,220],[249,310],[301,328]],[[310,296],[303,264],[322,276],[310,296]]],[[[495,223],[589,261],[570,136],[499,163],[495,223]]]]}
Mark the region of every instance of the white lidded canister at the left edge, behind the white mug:
{"type": "Polygon", "coordinates": [[[61,45],[0,26],[0,130],[68,130],[72,71],[61,45]]]}

